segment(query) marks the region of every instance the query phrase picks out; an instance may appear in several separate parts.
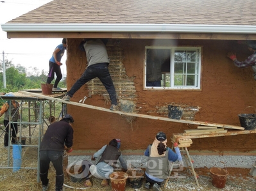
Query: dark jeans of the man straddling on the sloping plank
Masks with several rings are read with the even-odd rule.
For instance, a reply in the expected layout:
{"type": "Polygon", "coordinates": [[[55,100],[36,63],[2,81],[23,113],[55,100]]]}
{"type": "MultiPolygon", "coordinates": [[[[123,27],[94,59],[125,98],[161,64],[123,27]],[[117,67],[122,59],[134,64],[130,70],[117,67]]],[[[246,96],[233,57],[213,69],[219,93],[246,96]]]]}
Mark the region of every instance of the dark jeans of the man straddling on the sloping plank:
{"type": "Polygon", "coordinates": [[[83,84],[96,77],[101,80],[102,84],[107,89],[111,103],[117,105],[115,86],[111,79],[110,73],[108,72],[108,63],[99,63],[88,66],[85,72],[83,72],[83,75],[81,75],[80,79],[78,79],[72,88],[67,92],[67,95],[71,96],[72,98],[74,93],[76,93],[76,91],[78,91],[83,84]]]}

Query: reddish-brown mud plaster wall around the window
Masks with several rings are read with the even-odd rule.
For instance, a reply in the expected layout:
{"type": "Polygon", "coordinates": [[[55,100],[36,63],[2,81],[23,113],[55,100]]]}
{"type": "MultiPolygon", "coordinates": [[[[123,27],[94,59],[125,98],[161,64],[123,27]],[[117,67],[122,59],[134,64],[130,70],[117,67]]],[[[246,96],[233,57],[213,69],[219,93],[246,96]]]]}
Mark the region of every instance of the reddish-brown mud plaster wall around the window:
{"type": "MultiPolygon", "coordinates": [[[[87,66],[85,52],[78,48],[80,39],[68,39],[67,50],[67,89],[80,78],[87,66]]],[[[108,42],[108,51],[118,47],[123,50],[121,64],[124,66],[125,78],[132,79],[132,89],[135,89],[133,101],[135,112],[162,116],[159,108],[166,108],[171,103],[200,107],[196,121],[208,121],[228,125],[240,125],[238,114],[249,106],[255,106],[255,80],[252,68],[237,68],[226,57],[226,52],[237,52],[237,59],[243,61],[252,52],[246,45],[225,40],[134,40],[112,39],[108,42]],[[181,45],[202,47],[201,91],[148,91],[143,89],[144,52],[146,45],[181,45]]],[[[111,63],[110,63],[111,65],[111,63]]],[[[122,67],[123,67],[122,66],[122,67]]],[[[114,73],[110,72],[113,76],[114,73]]],[[[119,82],[120,79],[119,77],[119,82]]],[[[114,80],[115,84],[115,80],[114,80]]],[[[115,84],[115,87],[119,85],[115,84]]],[[[71,99],[79,102],[84,96],[86,104],[109,108],[101,93],[92,93],[92,83],[82,86],[71,99]]],[[[94,87],[95,88],[95,87],[94,87]]],[[[120,91],[121,92],[121,91],[120,91]]],[[[119,97],[123,95],[119,94],[119,97]]],[[[162,131],[171,137],[173,133],[182,133],[185,129],[197,128],[195,125],[173,123],[155,119],[127,118],[119,114],[94,111],[74,105],[67,106],[73,115],[74,149],[94,150],[107,144],[111,139],[121,139],[121,149],[146,149],[153,142],[157,132],[162,131]]],[[[255,112],[246,109],[246,113],[255,112]]],[[[166,115],[166,113],[164,113],[166,115]]],[[[255,134],[234,135],[193,139],[190,149],[210,151],[252,151],[255,149],[255,134]]],[[[171,143],[170,139],[168,139],[171,143]]],[[[167,142],[168,144],[168,142],[167,142]]],[[[169,144],[171,146],[171,144],[169,144]]]]}

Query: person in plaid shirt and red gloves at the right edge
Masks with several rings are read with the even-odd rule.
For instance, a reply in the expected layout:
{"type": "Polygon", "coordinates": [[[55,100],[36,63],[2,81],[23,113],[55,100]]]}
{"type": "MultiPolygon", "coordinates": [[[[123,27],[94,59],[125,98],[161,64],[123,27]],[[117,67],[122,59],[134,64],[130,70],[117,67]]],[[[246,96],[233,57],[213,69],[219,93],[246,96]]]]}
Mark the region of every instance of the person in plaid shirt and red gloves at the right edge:
{"type": "Polygon", "coordinates": [[[240,43],[246,43],[246,45],[248,46],[248,49],[251,52],[253,52],[253,54],[242,62],[237,60],[236,54],[234,52],[228,52],[228,54],[226,54],[226,56],[229,57],[230,59],[232,59],[232,61],[234,61],[235,66],[237,66],[239,68],[245,68],[248,66],[252,66],[252,69],[254,72],[253,77],[256,80],[256,41],[247,40],[247,41],[240,42],[240,43]]]}

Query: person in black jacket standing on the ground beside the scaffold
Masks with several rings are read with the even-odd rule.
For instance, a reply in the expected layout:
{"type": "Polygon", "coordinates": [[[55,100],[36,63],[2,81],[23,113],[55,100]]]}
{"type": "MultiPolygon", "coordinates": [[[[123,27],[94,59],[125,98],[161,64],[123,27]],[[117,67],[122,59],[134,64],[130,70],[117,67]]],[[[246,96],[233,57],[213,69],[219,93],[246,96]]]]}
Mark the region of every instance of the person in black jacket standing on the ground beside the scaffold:
{"type": "Polygon", "coordinates": [[[64,150],[68,153],[73,146],[73,128],[71,123],[74,119],[67,114],[58,122],[52,123],[46,130],[44,138],[40,144],[40,180],[42,190],[46,191],[49,187],[48,170],[50,162],[53,163],[56,171],[55,190],[62,191],[64,185],[63,154],[64,150]]]}

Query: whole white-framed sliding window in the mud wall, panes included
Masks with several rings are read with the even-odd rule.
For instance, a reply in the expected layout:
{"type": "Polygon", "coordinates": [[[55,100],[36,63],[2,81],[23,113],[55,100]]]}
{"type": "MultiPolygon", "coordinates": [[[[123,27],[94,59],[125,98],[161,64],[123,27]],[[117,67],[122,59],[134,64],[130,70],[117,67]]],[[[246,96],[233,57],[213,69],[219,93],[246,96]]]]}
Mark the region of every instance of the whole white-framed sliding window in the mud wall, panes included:
{"type": "Polygon", "coordinates": [[[201,89],[201,47],[146,47],[146,89],[201,89]]]}

